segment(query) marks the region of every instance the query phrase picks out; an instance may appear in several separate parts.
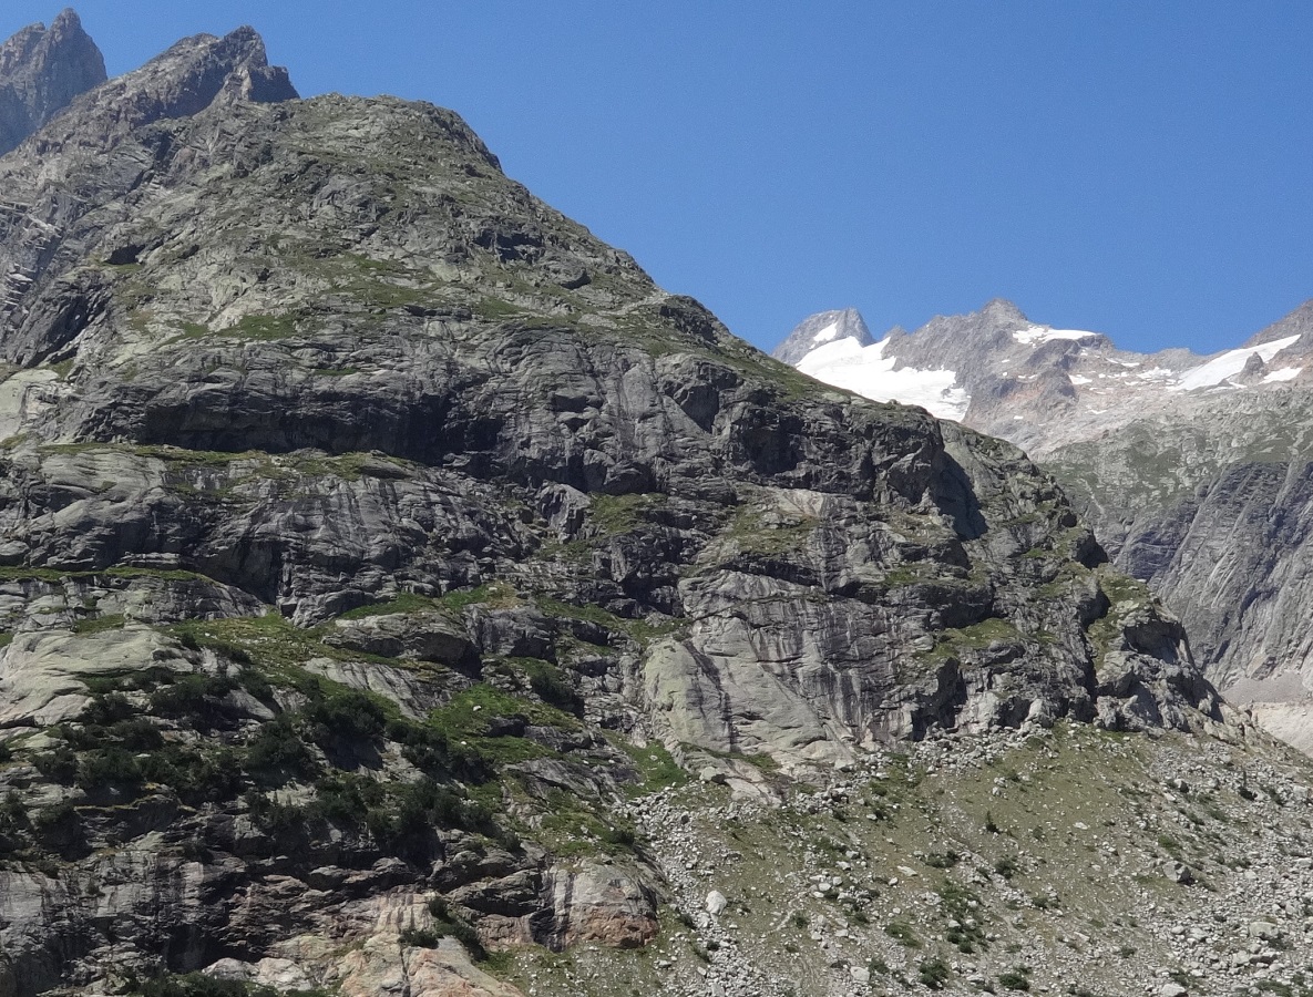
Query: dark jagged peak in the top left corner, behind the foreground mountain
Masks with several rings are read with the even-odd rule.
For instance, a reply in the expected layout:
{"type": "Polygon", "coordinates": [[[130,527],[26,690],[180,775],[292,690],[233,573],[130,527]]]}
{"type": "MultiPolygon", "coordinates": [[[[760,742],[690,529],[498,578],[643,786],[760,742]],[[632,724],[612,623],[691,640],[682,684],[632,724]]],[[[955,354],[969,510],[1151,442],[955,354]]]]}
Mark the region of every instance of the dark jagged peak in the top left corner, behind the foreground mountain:
{"type": "Polygon", "coordinates": [[[24,28],[0,46],[0,155],[104,81],[105,60],[76,13],[24,28]]]}

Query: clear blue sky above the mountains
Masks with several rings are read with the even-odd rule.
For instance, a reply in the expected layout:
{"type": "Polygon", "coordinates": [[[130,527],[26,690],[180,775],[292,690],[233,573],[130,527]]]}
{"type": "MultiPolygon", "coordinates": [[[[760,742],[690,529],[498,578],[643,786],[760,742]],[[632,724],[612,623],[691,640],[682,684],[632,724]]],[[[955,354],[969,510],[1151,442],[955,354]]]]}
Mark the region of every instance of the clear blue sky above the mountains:
{"type": "MultiPolygon", "coordinates": [[[[83,0],[112,74],[255,25],[302,95],[460,112],[506,171],[769,348],[993,297],[1137,349],[1313,297],[1313,4],[83,0]]],[[[0,34],[58,3],[11,0],[0,34]]]]}

